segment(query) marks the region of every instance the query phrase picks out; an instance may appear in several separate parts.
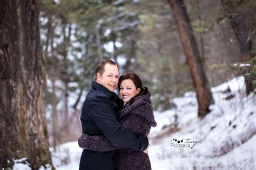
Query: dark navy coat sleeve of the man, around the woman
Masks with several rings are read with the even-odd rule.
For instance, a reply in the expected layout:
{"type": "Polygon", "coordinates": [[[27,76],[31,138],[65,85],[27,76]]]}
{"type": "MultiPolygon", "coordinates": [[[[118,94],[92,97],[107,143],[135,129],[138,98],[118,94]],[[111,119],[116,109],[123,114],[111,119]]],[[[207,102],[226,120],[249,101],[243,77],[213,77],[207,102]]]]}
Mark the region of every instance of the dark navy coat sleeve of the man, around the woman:
{"type": "Polygon", "coordinates": [[[120,126],[106,98],[93,98],[90,102],[89,114],[104,136],[113,143],[138,151],[145,151],[149,145],[147,137],[140,134],[135,135],[120,126]]]}

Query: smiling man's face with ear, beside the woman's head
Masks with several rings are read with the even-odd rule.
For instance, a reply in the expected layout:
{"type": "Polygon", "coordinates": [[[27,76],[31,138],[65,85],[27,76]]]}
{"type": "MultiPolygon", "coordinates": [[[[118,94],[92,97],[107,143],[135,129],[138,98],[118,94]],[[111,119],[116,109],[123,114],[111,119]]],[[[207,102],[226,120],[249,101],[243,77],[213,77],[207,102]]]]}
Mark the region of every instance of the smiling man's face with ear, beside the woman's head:
{"type": "Polygon", "coordinates": [[[117,65],[107,63],[104,70],[105,72],[102,75],[97,73],[96,82],[113,92],[118,84],[119,70],[117,65]]]}

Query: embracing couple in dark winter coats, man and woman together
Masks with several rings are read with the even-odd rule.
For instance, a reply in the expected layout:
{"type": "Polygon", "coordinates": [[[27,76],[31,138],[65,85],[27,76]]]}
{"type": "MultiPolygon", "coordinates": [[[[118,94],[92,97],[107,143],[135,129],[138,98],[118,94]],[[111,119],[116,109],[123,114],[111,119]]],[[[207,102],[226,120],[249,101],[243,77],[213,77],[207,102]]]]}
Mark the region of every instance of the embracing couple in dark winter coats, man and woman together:
{"type": "Polygon", "coordinates": [[[157,123],[150,97],[136,74],[119,77],[115,62],[98,63],[80,116],[80,170],[151,169],[148,135],[157,123]],[[122,100],[113,92],[117,86],[122,100]]]}

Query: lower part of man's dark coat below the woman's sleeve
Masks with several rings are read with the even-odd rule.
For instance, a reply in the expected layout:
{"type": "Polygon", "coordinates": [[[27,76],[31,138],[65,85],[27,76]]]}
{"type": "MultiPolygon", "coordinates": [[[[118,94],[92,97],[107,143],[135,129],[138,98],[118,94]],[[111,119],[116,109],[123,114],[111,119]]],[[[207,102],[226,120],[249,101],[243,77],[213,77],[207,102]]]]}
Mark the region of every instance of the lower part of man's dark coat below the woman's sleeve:
{"type": "Polygon", "coordinates": [[[114,170],[116,169],[115,155],[116,151],[96,152],[83,150],[79,170],[114,170]]]}

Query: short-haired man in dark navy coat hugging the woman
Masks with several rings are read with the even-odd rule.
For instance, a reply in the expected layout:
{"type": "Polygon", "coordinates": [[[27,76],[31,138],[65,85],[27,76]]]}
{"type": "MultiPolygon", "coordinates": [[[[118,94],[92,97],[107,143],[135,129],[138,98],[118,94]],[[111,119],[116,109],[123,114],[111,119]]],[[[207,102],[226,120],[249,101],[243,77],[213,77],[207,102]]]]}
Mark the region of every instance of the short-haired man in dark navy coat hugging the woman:
{"type": "MultiPolygon", "coordinates": [[[[149,146],[147,137],[134,135],[122,128],[116,119],[118,111],[123,108],[123,101],[113,93],[119,77],[117,64],[103,60],[96,66],[95,74],[96,82],[92,82],[82,107],[80,120],[83,133],[89,136],[104,135],[119,146],[146,152],[149,146]]],[[[115,169],[115,154],[116,151],[83,150],[79,169],[115,169]]]]}

